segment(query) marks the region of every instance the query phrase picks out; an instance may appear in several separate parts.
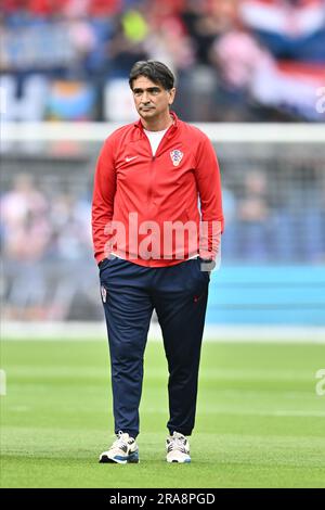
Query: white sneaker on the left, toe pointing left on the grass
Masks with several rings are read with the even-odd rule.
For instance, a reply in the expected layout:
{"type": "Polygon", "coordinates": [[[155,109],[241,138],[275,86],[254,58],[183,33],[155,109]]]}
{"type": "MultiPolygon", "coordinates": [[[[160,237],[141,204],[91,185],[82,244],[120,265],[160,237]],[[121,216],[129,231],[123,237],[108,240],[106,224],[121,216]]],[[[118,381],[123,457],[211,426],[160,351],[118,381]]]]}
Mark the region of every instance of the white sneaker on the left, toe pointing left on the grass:
{"type": "Polygon", "coordinates": [[[121,431],[117,434],[117,439],[107,451],[100,456],[100,462],[116,462],[118,464],[138,463],[139,448],[133,437],[121,431]]]}

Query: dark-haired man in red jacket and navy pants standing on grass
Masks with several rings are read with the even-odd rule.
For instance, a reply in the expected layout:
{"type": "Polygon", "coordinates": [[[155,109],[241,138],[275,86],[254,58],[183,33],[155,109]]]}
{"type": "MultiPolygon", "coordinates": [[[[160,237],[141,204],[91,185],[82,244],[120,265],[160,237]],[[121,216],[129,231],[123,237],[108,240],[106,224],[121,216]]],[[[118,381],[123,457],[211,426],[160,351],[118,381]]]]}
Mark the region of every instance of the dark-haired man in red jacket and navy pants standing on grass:
{"type": "Polygon", "coordinates": [[[170,112],[176,88],[166,65],[136,62],[129,84],[141,118],[105,141],[93,191],[117,434],[100,462],[139,461],[143,355],[154,309],[169,369],[167,461],[190,462],[209,285],[200,269],[203,258],[211,268],[223,230],[220,174],[209,139],[170,112]]]}

